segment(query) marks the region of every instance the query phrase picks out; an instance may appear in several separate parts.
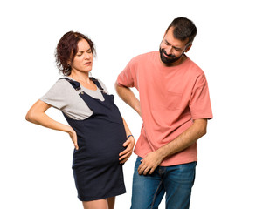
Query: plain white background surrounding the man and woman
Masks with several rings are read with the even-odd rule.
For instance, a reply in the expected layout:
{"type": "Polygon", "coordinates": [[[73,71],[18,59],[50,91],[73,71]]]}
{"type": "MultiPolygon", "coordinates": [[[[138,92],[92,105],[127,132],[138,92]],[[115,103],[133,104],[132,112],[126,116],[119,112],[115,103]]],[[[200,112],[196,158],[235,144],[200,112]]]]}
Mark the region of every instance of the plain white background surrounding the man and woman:
{"type": "MultiPolygon", "coordinates": [[[[82,208],[73,183],[73,144],[66,133],[25,121],[32,104],[60,77],[55,47],[64,33],[93,39],[93,76],[139,137],[142,121],[117,97],[114,81],[130,58],[157,51],[175,17],[189,17],[197,37],[187,55],[208,79],[214,118],[198,141],[191,209],[256,208],[255,12],[248,1],[5,1],[0,3],[0,208],[82,208]]],[[[60,111],[47,113],[65,122],[60,111]]],[[[130,206],[135,154],[124,165],[130,206]]],[[[164,199],[160,208],[164,208],[164,199]]]]}

